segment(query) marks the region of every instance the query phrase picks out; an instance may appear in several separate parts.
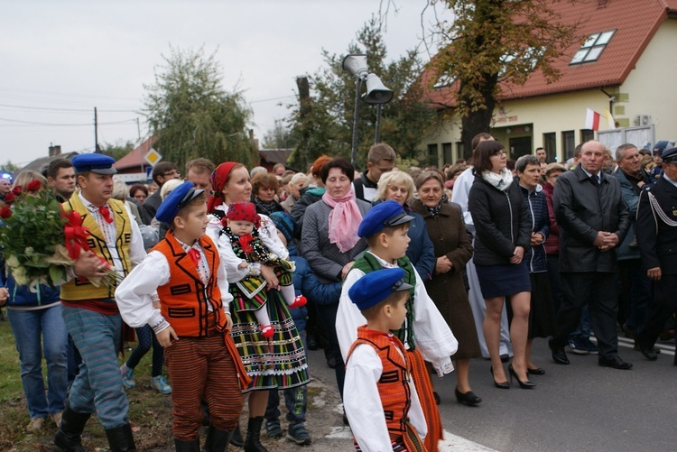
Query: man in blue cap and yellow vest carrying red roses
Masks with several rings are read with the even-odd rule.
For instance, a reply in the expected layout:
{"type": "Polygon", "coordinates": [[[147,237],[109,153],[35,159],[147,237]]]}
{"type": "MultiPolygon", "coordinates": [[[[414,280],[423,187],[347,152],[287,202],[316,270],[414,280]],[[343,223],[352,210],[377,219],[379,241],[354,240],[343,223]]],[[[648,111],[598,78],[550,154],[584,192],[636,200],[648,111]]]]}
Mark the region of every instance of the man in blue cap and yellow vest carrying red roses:
{"type": "Polygon", "coordinates": [[[80,254],[61,285],[63,319],[82,355],[79,374],[70,387],[54,444],[62,450],[84,450],[80,437],[89,417],[97,412],[111,450],[135,450],[127,418],[129,404],[122,386],[117,354],[122,318],[115,287],[94,286],[87,278],[106,277],[113,270],[125,277],[145,257],[144,242],[125,205],[111,198],[115,160],[91,153],[73,158],[79,191],[61,206],[77,213],[87,227],[90,251],[80,254]]]}

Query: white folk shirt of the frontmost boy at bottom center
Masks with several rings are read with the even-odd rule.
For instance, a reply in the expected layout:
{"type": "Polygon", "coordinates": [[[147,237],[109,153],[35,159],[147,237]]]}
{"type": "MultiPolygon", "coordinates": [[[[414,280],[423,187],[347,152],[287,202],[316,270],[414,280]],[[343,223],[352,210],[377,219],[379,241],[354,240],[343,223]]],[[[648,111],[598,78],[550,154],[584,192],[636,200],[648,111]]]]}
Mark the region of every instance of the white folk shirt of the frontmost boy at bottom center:
{"type": "MultiPolygon", "coordinates": [[[[397,353],[401,352],[397,350],[397,353]]],[[[376,384],[381,374],[383,374],[383,364],[376,350],[367,344],[356,346],[346,366],[344,386],[350,388],[350,391],[343,393],[343,408],[346,410],[350,429],[353,431],[357,444],[364,452],[392,452],[393,450],[388,427],[385,424],[383,403],[376,384]]],[[[425,438],[428,427],[423,416],[421,401],[419,401],[411,378],[409,387],[412,396],[409,421],[419,437],[425,438]]]]}

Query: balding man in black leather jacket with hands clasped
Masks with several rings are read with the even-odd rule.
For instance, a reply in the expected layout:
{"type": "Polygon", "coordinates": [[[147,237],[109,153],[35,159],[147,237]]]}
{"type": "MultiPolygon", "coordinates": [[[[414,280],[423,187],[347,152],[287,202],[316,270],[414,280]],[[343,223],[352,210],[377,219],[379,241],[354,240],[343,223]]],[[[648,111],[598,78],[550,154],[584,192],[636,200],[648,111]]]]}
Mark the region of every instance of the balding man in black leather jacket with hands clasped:
{"type": "Polygon", "coordinates": [[[579,324],[588,304],[598,340],[598,364],[632,369],[618,356],[616,318],[616,247],[626,238],[630,217],[618,180],[604,174],[604,144],[584,143],[580,164],[565,172],[554,189],[554,209],[560,226],[560,273],[564,300],[557,313],[558,332],[550,340],[552,359],[569,364],[564,353],[567,336],[579,324]]]}

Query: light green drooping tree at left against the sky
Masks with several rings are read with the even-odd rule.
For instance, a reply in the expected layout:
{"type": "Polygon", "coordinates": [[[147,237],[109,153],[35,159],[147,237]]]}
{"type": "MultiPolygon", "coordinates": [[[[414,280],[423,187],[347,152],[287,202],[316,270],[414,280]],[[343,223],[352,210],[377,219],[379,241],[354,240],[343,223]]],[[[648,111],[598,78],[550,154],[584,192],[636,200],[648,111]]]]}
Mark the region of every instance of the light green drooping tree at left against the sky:
{"type": "Polygon", "coordinates": [[[159,136],[154,147],[162,159],[179,168],[197,157],[253,166],[257,149],[247,127],[252,111],[241,91],[221,87],[215,54],[170,48],[162,59],[154,83],[144,85],[144,114],[151,134],[159,136]]]}

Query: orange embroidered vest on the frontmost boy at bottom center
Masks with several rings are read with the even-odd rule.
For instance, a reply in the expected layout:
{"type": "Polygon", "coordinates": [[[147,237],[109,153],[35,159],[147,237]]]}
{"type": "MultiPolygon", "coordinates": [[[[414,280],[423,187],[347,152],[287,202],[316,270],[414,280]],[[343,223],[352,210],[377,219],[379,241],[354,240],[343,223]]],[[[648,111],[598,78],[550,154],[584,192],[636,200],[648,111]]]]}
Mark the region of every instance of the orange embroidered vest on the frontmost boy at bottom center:
{"type": "MultiPolygon", "coordinates": [[[[412,406],[412,393],[409,386],[409,364],[404,356],[403,343],[394,335],[368,329],[365,326],[357,328],[357,340],[350,347],[346,363],[350,360],[353,350],[360,344],[374,348],[383,365],[383,372],[378,379],[378,395],[383,404],[385,424],[388,427],[391,441],[415,441],[420,439],[409,423],[409,409],[412,406]]],[[[409,444],[407,444],[409,446],[409,444]]],[[[417,447],[407,447],[407,450],[422,450],[417,447]]]]}

